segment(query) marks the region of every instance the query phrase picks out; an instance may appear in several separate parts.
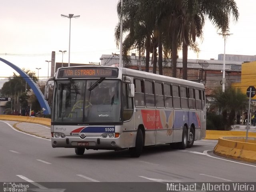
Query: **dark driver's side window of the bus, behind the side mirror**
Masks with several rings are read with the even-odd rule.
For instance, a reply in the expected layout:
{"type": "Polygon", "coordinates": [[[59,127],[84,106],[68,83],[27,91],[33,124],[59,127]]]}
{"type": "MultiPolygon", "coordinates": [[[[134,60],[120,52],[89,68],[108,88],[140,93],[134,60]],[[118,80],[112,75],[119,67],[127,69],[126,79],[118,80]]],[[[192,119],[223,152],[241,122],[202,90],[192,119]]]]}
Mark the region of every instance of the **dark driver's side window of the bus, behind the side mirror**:
{"type": "Polygon", "coordinates": [[[132,107],[132,98],[128,97],[129,84],[123,83],[123,120],[128,121],[132,118],[133,107],[132,107]]]}

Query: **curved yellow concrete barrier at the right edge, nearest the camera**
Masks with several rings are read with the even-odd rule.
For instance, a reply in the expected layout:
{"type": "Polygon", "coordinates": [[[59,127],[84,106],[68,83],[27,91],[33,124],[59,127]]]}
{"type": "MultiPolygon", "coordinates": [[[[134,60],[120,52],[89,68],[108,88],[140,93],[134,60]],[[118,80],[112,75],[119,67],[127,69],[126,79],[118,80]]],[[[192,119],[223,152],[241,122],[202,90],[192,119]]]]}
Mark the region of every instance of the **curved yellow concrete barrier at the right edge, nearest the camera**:
{"type": "Polygon", "coordinates": [[[235,160],[256,163],[256,138],[220,137],[214,154],[235,160]]]}

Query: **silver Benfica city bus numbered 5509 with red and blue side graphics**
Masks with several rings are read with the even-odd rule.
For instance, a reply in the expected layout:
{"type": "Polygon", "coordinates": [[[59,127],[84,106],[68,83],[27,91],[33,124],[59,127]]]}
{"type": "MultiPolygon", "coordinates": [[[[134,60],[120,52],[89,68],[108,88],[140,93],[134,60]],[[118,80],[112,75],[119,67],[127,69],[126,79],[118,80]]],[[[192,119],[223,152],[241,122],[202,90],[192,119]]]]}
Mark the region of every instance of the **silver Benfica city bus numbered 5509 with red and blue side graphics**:
{"type": "MultiPolygon", "coordinates": [[[[128,68],[59,68],[52,98],[52,147],[129,149],[191,147],[205,137],[204,85],[128,68]]],[[[49,85],[46,85],[47,100],[49,85]]]]}

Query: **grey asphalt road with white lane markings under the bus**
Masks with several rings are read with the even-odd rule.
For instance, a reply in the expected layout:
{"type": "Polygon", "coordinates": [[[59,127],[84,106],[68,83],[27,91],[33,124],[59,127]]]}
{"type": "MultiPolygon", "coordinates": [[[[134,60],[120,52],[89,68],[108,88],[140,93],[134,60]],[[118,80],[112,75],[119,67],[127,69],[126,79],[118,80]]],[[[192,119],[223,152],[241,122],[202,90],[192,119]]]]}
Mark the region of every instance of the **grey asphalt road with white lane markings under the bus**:
{"type": "Polygon", "coordinates": [[[256,164],[214,155],[216,140],[196,141],[186,150],[147,147],[139,158],[128,150],[76,156],[74,149],[52,148],[49,139],[5,122],[0,121],[0,182],[255,182],[256,164]]]}

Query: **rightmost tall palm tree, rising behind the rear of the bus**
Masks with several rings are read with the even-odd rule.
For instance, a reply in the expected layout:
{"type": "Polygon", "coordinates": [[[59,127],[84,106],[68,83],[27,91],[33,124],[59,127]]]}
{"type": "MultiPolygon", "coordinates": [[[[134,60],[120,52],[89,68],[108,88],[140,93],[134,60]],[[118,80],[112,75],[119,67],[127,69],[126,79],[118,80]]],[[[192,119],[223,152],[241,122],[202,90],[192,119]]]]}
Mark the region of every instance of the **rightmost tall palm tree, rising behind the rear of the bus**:
{"type": "Polygon", "coordinates": [[[187,79],[187,58],[190,42],[195,42],[196,36],[202,36],[205,17],[221,30],[223,34],[228,32],[229,16],[233,15],[234,21],[238,21],[239,13],[234,0],[183,0],[182,1],[182,62],[183,79],[187,79]]]}

